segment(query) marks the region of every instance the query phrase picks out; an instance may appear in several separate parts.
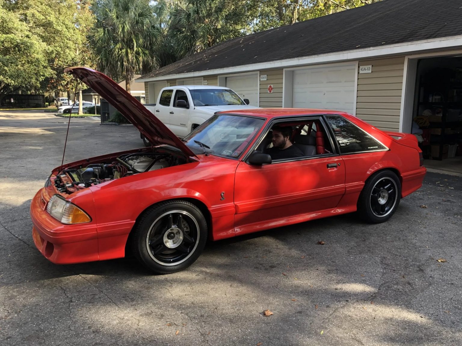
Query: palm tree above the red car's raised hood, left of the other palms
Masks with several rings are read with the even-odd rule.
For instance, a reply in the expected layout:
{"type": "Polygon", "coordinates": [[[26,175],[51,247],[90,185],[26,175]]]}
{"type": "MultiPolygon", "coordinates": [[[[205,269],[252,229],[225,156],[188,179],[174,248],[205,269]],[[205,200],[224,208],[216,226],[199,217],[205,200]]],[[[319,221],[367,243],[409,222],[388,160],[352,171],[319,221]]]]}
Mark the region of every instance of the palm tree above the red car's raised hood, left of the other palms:
{"type": "Polygon", "coordinates": [[[149,0],[101,0],[93,8],[97,21],[90,42],[98,69],[111,78],[125,77],[125,89],[138,72],[158,68],[155,48],[162,41],[149,0]]]}

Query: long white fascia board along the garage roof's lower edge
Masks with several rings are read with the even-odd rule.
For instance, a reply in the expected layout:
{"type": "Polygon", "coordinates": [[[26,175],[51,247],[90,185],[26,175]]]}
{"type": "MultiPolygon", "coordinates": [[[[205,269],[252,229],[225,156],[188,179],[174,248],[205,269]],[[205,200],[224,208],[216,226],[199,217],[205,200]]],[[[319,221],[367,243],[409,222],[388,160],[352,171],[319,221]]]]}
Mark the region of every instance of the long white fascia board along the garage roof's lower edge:
{"type": "Polygon", "coordinates": [[[186,72],[151,78],[135,79],[136,82],[154,82],[164,79],[181,79],[208,75],[223,75],[227,73],[251,72],[259,70],[270,70],[284,67],[296,67],[302,65],[315,65],[320,63],[339,62],[347,60],[358,60],[365,58],[377,58],[397,54],[412,54],[432,49],[445,49],[462,46],[462,35],[434,38],[430,40],[402,42],[381,47],[355,49],[343,52],[312,55],[302,58],[268,61],[260,64],[249,64],[219,68],[207,71],[186,72]]]}

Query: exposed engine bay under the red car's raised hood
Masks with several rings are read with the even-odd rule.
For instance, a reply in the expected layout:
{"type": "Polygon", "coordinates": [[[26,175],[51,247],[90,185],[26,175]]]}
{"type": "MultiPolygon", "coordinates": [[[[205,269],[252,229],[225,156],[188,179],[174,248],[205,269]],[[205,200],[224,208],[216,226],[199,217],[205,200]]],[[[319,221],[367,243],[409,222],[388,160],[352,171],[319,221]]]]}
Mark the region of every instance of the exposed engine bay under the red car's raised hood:
{"type": "Polygon", "coordinates": [[[107,162],[91,163],[86,167],[67,167],[56,174],[53,184],[58,191],[70,194],[110,180],[186,162],[184,158],[170,153],[135,152],[109,158],[107,162]]]}

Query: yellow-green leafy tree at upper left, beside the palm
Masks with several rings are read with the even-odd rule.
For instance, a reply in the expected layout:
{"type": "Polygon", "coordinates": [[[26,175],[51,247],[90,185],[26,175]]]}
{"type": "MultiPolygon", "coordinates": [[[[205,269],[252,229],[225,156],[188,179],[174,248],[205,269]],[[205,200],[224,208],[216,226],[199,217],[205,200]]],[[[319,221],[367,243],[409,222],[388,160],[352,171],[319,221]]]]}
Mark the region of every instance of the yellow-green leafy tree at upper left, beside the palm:
{"type": "MultiPolygon", "coordinates": [[[[15,85],[23,91],[67,90],[69,95],[75,81],[64,75],[64,68],[73,65],[94,66],[86,40],[86,33],[93,21],[89,10],[90,1],[4,0],[0,6],[8,17],[21,23],[22,29],[18,30],[18,37],[29,35],[34,42],[44,47],[41,55],[10,52],[18,60],[32,57],[44,59],[42,64],[27,66],[27,71],[31,71],[39,79],[39,84],[34,82],[34,78],[30,78],[29,83],[15,85]]],[[[17,66],[12,61],[9,63],[10,70],[20,70],[17,66]]],[[[26,65],[24,70],[25,67],[26,65]]]]}

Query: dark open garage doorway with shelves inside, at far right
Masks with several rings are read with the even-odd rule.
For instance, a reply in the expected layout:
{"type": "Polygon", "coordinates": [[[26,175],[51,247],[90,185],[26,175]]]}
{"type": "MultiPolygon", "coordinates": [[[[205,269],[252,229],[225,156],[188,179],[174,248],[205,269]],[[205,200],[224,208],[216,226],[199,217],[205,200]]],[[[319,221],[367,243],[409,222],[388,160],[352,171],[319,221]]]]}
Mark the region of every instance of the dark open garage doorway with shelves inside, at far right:
{"type": "Polygon", "coordinates": [[[402,130],[418,137],[426,167],[462,174],[462,54],[407,68],[402,130]]]}

